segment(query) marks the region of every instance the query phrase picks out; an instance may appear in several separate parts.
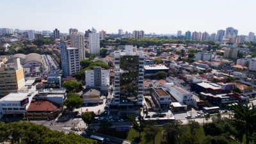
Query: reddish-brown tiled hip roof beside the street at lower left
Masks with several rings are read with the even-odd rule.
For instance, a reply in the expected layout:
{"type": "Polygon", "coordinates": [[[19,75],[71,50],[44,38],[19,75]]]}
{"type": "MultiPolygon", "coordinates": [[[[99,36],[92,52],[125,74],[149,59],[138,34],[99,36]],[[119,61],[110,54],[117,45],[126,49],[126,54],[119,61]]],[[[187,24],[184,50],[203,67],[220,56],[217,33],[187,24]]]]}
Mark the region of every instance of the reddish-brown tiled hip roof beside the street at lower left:
{"type": "Polygon", "coordinates": [[[57,104],[49,100],[31,102],[28,111],[56,111],[57,104]]]}

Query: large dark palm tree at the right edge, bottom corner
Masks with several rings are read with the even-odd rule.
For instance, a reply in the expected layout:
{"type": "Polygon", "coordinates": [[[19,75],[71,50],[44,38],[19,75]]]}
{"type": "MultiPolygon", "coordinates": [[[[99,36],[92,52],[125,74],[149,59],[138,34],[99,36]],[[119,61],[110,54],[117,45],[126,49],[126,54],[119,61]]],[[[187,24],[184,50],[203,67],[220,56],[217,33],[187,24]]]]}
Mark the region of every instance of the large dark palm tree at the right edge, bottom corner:
{"type": "Polygon", "coordinates": [[[232,125],[237,131],[245,134],[246,144],[248,144],[256,129],[256,106],[242,105],[237,102],[237,105],[231,105],[230,108],[233,110],[230,114],[232,125]]]}

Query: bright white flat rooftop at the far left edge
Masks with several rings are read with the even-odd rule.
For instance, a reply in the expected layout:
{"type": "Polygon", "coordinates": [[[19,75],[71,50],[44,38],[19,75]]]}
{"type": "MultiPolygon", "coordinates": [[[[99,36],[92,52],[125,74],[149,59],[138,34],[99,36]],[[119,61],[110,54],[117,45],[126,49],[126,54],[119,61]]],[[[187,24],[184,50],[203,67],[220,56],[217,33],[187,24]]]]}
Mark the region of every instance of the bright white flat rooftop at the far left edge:
{"type": "Polygon", "coordinates": [[[19,101],[28,98],[30,96],[29,94],[33,93],[10,93],[0,99],[0,101],[19,101]]]}

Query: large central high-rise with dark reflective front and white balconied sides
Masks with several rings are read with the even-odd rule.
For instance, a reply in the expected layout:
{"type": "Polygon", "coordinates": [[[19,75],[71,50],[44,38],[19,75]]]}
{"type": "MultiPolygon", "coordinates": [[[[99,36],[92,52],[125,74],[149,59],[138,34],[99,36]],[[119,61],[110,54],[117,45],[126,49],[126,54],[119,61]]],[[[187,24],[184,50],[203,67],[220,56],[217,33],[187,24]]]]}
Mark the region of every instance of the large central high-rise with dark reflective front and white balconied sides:
{"type": "Polygon", "coordinates": [[[138,51],[136,46],[125,45],[124,52],[115,51],[115,104],[143,104],[144,60],[145,53],[138,51]]]}

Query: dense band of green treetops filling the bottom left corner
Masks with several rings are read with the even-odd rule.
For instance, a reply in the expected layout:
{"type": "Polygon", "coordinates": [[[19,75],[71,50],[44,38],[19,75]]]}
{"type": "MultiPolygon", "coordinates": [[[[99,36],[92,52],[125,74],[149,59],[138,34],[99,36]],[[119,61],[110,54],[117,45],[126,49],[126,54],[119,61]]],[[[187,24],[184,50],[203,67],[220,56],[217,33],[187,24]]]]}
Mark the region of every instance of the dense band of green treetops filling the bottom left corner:
{"type": "Polygon", "coordinates": [[[74,132],[65,135],[63,131],[52,131],[44,125],[36,125],[32,122],[11,122],[8,124],[0,122],[0,141],[24,144],[97,144],[97,141],[83,138],[74,132]]]}

